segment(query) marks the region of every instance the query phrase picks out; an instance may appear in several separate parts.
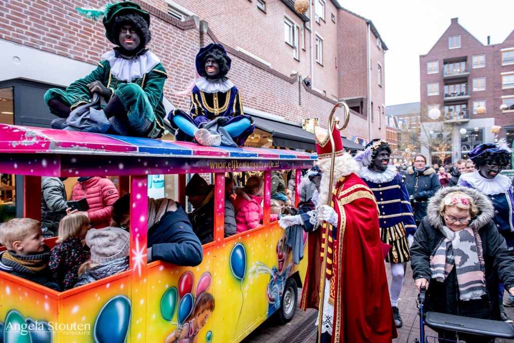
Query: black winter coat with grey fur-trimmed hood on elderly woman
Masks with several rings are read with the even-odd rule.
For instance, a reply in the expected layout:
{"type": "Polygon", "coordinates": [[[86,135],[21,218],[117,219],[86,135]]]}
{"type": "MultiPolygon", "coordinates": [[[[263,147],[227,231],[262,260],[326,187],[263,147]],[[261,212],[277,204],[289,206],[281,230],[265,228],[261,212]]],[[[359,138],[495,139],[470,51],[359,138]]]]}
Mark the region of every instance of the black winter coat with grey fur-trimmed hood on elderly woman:
{"type": "Polygon", "coordinates": [[[472,188],[445,187],[430,199],[427,216],[421,221],[410,249],[414,280],[425,278],[429,281],[425,301],[427,311],[500,319],[498,280],[503,281],[506,290],[514,287],[514,256],[507,250],[505,239],[494,226],[493,217],[491,201],[472,188]],[[448,193],[457,190],[468,194],[480,210],[478,216],[473,218],[468,226],[478,229],[482,241],[487,286],[487,294],[482,296],[482,299],[460,300],[455,268],[444,282],[431,280],[430,257],[444,239],[440,231],[444,225],[444,219],[439,215],[439,204],[448,193]]]}

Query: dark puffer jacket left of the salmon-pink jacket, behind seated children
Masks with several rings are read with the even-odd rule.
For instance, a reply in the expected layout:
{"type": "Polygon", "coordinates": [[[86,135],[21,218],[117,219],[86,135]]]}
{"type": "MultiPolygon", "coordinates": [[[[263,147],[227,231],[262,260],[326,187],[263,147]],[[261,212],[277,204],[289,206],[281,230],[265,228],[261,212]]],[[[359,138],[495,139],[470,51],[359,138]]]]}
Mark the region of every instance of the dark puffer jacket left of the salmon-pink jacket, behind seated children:
{"type": "Polygon", "coordinates": [[[59,178],[41,179],[41,227],[57,234],[59,222],[66,215],[66,189],[59,178]]]}

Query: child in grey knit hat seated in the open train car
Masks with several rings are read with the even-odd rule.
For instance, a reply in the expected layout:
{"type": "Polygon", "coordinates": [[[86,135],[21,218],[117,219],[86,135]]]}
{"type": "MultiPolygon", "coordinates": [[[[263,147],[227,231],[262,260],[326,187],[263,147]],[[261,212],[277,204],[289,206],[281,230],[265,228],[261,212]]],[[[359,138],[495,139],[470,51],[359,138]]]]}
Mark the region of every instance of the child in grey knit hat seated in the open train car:
{"type": "Polygon", "coordinates": [[[121,227],[89,230],[86,244],[91,259],[80,266],[75,287],[128,270],[129,237],[121,227]]]}

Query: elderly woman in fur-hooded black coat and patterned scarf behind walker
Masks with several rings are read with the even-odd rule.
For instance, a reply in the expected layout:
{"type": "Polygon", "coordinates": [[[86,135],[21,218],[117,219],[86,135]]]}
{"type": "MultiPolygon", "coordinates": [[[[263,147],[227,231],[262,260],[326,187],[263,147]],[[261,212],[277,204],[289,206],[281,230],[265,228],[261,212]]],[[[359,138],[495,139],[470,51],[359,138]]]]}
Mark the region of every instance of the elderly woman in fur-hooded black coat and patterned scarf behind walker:
{"type": "MultiPolygon", "coordinates": [[[[500,320],[498,283],[502,280],[514,294],[514,255],[496,230],[494,216],[491,201],[472,188],[442,188],[430,199],[410,249],[416,287],[427,288],[427,311],[500,320]]],[[[455,332],[438,333],[456,340],[455,332]]]]}

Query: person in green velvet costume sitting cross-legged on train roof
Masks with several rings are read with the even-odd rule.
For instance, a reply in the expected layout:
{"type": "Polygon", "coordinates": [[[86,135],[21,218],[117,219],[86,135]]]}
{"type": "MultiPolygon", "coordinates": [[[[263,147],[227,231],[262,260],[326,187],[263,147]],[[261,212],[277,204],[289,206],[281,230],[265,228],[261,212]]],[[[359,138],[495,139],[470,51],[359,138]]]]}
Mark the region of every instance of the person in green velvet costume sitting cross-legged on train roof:
{"type": "Polygon", "coordinates": [[[77,10],[93,20],[103,16],[105,36],[116,47],[104,53],[97,68],[86,77],[65,90],[46,92],[50,112],[63,118],[54,120],[52,127],[161,137],[165,131],[162,98],[167,74],[159,58],[146,49],[151,39],[150,14],[128,1],[98,10],[77,10]],[[102,98],[105,106],[100,104],[102,98]]]}

